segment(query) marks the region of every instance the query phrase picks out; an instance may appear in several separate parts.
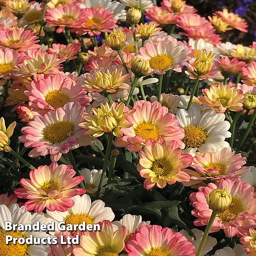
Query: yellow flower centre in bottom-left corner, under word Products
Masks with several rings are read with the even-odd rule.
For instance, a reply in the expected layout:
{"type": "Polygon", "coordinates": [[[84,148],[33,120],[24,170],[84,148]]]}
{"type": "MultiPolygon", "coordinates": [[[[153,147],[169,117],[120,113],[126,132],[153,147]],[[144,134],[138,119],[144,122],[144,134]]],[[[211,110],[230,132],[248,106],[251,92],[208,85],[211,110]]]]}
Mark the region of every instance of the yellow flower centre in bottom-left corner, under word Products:
{"type": "Polygon", "coordinates": [[[0,256],[27,256],[27,248],[28,245],[26,243],[19,244],[16,242],[16,244],[13,244],[12,242],[9,242],[9,244],[5,244],[5,236],[10,235],[13,238],[25,238],[24,234],[16,231],[5,231],[1,229],[0,231],[0,256]]]}

